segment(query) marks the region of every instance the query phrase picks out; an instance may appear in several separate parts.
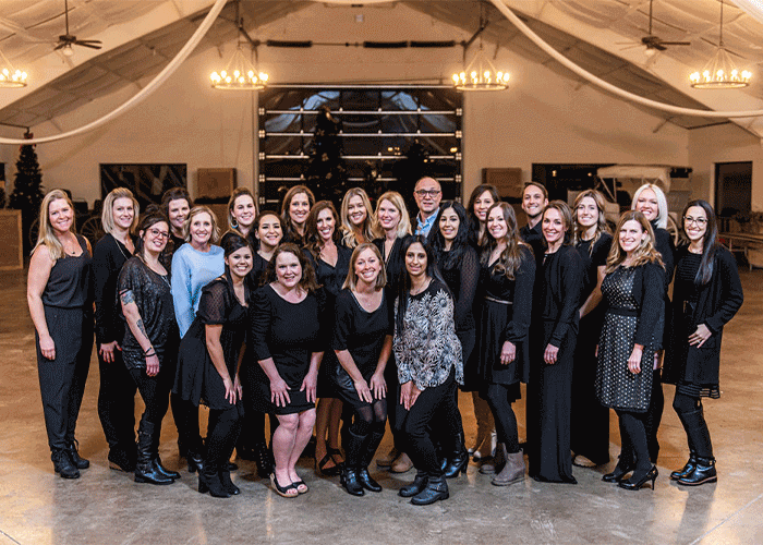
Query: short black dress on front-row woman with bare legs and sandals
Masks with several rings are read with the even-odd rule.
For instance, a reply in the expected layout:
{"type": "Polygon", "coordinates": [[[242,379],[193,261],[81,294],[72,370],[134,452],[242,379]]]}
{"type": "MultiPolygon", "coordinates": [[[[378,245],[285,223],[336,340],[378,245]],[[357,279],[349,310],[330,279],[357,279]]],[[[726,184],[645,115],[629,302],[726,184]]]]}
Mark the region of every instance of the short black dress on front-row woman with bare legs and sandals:
{"type": "Polygon", "coordinates": [[[293,414],[313,409],[306,390],[300,391],[310,370],[313,352],[323,350],[324,299],[320,291],[307,293],[300,303],[290,303],[272,287],[263,286],[254,295],[251,306],[250,336],[257,361],[272,358],[278,374],[289,386],[291,401],[287,407],[270,402],[270,383],[258,383],[258,400],[263,412],[293,414]]]}

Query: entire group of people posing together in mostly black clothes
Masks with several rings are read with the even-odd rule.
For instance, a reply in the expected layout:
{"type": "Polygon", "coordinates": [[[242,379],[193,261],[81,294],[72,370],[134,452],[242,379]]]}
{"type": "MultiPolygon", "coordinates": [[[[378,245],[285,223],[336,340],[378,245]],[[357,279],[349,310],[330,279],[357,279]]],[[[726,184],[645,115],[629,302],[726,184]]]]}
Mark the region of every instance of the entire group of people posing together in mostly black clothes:
{"type": "Polygon", "coordinates": [[[138,218],[120,187],[104,201],[106,234],[93,251],[74,232],[66,194],[49,192],[27,299],[56,472],[76,479],[89,465],[74,432],[95,334],[109,463],[136,482],[180,477],[158,456],[170,405],[201,493],[240,493],[234,449],[280,496],[307,493],[296,462],[314,431],[319,472],[340,475],[354,496],[380,492],[368,468],[389,421],[395,448],[377,465],[415,468],[399,491],[414,505],[447,499],[447,480],[465,472],[470,453],[496,486],[524,479],[525,455],[536,481],[576,483],[573,463],[609,461],[613,408],[622,448],[603,480],[654,487],[664,382],[676,385],[690,451],[670,477],[717,480],[702,398],[719,397],[723,328],[742,290],[706,202],[685,208],[676,250],[652,184],[614,233],[594,190],[570,208],[526,184],[521,229],[492,185],[464,208],[422,178],[414,198],[411,218],[399,193],[373,209],[352,189],[337,211],[296,185],[278,214],[240,187],[220,235],[213,210],[185,190],[138,218]],[[521,383],[524,445],[512,408],[521,383]],[[474,401],[470,450],[459,388],[474,401]],[[199,404],[209,409],[205,438],[199,404]]]}

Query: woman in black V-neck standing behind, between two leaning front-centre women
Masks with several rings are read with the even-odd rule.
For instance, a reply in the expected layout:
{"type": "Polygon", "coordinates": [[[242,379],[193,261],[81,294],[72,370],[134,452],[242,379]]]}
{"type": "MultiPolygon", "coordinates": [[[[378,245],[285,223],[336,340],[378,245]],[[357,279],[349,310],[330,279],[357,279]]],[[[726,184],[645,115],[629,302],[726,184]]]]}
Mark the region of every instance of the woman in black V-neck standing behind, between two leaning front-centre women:
{"type": "MultiPolygon", "coordinates": [[[[315,269],[318,284],[326,295],[326,330],[332,330],[334,303],[342,289],[350,268],[352,250],[341,243],[339,215],[329,201],[318,201],[311,208],[305,228],[305,255],[315,269]]],[[[339,423],[342,401],[336,389],[334,376],[337,358],[326,340],[326,351],[318,372],[318,405],[315,415],[315,468],[325,475],[339,474],[344,461],[339,450],[339,423]],[[327,437],[328,433],[328,437],[327,437]]]]}

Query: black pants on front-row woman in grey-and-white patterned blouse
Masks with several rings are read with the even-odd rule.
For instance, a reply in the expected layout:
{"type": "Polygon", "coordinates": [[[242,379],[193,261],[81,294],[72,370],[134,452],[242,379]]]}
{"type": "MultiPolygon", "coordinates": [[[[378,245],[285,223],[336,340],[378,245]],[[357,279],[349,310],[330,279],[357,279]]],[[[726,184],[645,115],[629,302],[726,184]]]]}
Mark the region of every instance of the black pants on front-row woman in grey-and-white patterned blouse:
{"type": "MultiPolygon", "coordinates": [[[[435,446],[429,435],[429,426],[435,417],[451,429],[455,435],[460,423],[458,405],[456,405],[456,370],[450,371],[448,378],[439,386],[425,388],[410,411],[397,404],[397,425],[404,451],[411,458],[416,470],[428,475],[440,476],[443,470],[437,458],[435,446]]],[[[449,434],[450,435],[450,434],[449,434]]]]}

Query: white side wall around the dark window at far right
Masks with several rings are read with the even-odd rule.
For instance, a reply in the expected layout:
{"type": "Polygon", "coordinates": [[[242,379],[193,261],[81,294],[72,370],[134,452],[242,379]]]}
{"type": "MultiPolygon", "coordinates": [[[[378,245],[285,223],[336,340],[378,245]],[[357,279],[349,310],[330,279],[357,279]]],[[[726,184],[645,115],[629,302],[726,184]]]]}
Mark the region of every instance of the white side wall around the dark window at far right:
{"type": "Polygon", "coordinates": [[[715,201],[715,164],[752,161],[752,211],[763,211],[763,141],[735,124],[689,133],[692,196],[715,201]]]}

